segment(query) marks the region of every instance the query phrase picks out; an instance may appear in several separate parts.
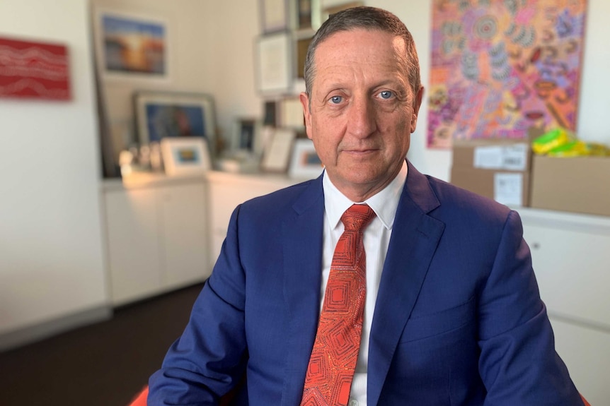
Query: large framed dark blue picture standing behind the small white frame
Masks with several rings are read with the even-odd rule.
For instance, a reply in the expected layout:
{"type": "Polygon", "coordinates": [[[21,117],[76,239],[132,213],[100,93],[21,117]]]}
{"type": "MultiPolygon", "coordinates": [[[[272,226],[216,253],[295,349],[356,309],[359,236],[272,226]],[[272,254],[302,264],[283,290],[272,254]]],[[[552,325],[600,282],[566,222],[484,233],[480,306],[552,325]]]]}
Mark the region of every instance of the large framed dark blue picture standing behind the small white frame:
{"type": "Polygon", "coordinates": [[[216,121],[212,96],[183,92],[137,92],[134,112],[140,144],[173,137],[201,137],[214,157],[216,121]]]}

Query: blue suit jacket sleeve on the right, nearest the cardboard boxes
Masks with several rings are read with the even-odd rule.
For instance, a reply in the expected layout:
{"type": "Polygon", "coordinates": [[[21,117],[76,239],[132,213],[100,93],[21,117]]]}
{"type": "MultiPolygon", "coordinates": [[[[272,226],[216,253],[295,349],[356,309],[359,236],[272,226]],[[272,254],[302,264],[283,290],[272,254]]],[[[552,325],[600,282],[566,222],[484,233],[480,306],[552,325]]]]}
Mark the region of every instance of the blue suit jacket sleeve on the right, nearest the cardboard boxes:
{"type": "Polygon", "coordinates": [[[582,405],[554,348],[522,223],[510,212],[479,297],[479,371],[485,405],[582,405]]]}

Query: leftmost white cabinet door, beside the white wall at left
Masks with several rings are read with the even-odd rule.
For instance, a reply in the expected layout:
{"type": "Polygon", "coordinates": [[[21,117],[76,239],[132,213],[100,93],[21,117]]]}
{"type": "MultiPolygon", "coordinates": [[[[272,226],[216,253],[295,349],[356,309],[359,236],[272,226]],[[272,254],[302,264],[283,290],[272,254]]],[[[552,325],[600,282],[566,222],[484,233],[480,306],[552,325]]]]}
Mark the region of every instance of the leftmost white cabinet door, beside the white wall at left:
{"type": "Polygon", "coordinates": [[[115,305],[146,297],[161,287],[155,193],[154,189],[105,193],[108,266],[115,305]]]}

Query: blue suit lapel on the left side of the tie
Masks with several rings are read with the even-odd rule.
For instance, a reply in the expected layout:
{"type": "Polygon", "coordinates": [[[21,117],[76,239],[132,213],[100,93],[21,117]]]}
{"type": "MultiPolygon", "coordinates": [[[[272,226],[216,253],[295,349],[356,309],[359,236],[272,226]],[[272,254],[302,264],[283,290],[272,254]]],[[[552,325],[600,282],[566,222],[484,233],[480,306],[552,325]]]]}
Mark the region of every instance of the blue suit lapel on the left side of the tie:
{"type": "Polygon", "coordinates": [[[292,217],[282,225],[284,302],[289,317],[282,405],[301,402],[318,328],[324,218],[321,177],[311,181],[293,208],[292,217]]]}

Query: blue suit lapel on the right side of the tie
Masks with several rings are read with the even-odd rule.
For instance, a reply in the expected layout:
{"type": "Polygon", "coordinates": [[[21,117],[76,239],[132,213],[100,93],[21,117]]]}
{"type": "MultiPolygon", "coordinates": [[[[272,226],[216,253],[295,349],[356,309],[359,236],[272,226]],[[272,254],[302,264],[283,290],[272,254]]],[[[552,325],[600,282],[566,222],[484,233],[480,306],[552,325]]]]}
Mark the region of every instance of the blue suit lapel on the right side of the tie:
{"type": "Polygon", "coordinates": [[[438,205],[426,177],[409,164],[381,274],[369,339],[368,405],[377,405],[398,340],[444,230],[442,222],[427,215],[438,205]]]}

